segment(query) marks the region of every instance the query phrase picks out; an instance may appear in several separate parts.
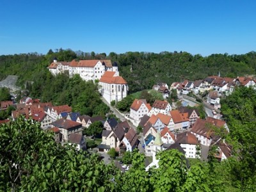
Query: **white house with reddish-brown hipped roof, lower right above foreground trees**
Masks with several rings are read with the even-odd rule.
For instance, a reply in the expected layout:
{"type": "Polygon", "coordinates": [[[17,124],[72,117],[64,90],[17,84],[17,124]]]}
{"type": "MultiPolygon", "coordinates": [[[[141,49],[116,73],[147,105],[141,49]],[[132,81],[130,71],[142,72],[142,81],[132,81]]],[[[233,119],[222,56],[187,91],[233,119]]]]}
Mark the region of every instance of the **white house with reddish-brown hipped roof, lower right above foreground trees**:
{"type": "Polygon", "coordinates": [[[191,132],[182,132],[177,134],[176,143],[180,144],[180,147],[186,152],[187,158],[197,158],[200,154],[199,142],[194,134],[191,132]]]}

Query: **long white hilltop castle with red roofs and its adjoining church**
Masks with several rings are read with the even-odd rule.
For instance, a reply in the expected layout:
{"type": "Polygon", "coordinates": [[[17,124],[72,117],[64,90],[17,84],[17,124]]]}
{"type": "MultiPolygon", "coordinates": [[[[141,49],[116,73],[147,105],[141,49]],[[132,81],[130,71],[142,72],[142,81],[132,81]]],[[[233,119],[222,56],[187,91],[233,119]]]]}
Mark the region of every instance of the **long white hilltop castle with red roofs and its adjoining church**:
{"type": "Polygon", "coordinates": [[[49,65],[52,75],[68,73],[70,77],[78,74],[84,81],[99,81],[99,92],[110,103],[124,99],[129,90],[127,81],[119,76],[117,63],[111,60],[72,60],[71,62],[54,61],[49,65]]]}

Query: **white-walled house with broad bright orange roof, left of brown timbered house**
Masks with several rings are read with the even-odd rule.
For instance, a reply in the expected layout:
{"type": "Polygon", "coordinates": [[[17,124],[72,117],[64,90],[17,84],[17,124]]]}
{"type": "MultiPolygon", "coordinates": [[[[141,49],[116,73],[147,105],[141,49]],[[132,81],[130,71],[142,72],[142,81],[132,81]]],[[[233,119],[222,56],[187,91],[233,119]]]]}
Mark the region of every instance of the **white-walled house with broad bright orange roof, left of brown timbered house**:
{"type": "Polygon", "coordinates": [[[172,116],[174,122],[174,129],[171,131],[180,131],[182,129],[188,129],[189,118],[188,113],[180,113],[179,110],[170,111],[170,116],[172,116]]]}

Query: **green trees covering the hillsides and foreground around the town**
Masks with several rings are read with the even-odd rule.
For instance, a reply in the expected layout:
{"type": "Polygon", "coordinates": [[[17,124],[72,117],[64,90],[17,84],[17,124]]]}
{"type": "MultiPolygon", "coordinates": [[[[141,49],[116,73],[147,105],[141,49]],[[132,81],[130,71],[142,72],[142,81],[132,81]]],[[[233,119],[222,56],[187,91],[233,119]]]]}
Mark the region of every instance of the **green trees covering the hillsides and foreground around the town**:
{"type": "MultiPolygon", "coordinates": [[[[47,70],[52,58],[58,60],[109,58],[119,65],[130,92],[168,84],[180,79],[200,79],[208,75],[246,76],[255,74],[256,53],[243,55],[212,54],[202,57],[187,52],[127,52],[95,54],[71,50],[0,56],[1,79],[19,76],[18,84],[31,97],[54,104],[69,104],[84,114],[104,115],[108,108],[100,102],[97,87],[79,76],[53,77],[47,70]],[[132,70],[131,70],[132,69],[132,70]],[[85,106],[85,107],[81,107],[85,106]]],[[[159,168],[145,172],[145,156],[132,153],[132,167],[121,173],[113,164],[105,165],[95,154],[61,147],[51,132],[19,118],[0,125],[0,191],[254,191],[256,189],[256,92],[236,88],[221,100],[221,112],[230,134],[221,134],[233,148],[228,161],[218,162],[214,148],[209,161],[191,163],[175,150],[159,153],[159,168]]],[[[213,129],[213,128],[212,128],[213,129]]]]}

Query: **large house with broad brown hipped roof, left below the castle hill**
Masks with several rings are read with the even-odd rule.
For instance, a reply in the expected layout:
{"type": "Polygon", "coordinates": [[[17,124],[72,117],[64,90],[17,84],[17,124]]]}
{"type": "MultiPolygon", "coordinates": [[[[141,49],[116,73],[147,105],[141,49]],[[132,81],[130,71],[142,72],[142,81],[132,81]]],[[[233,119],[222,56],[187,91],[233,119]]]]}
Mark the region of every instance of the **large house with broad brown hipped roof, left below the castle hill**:
{"type": "Polygon", "coordinates": [[[82,124],[74,122],[72,120],[67,120],[65,118],[61,118],[52,122],[52,127],[58,127],[62,134],[62,141],[69,141],[70,134],[77,133],[83,135],[83,127],[82,124]]]}

